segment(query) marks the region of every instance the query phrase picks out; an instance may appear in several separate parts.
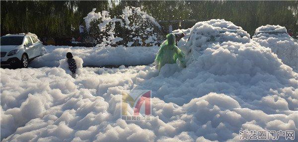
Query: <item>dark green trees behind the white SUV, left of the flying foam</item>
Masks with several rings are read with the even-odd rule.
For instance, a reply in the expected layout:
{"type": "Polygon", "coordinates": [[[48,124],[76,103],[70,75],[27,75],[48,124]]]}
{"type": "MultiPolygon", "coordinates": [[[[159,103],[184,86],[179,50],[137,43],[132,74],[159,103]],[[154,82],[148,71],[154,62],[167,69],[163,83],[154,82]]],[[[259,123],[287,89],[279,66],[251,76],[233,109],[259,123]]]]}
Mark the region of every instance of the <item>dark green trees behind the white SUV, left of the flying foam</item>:
{"type": "Polygon", "coordinates": [[[31,32],[39,37],[78,36],[79,22],[92,8],[98,6],[99,10],[103,10],[108,7],[107,1],[0,2],[1,35],[31,32]],[[75,31],[71,30],[72,26],[75,31]]]}

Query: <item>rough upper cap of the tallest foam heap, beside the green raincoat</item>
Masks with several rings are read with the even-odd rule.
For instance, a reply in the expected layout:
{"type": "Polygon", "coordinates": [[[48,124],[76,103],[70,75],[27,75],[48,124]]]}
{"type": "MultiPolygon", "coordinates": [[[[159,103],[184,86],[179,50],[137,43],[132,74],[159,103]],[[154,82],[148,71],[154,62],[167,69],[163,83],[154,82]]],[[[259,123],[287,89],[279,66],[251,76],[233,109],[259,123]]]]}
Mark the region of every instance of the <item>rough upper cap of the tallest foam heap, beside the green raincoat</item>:
{"type": "Polygon", "coordinates": [[[227,41],[244,44],[250,42],[249,37],[246,31],[232,22],[213,19],[196,23],[190,29],[188,41],[180,48],[186,53],[188,58],[192,58],[199,56],[197,53],[206,49],[205,45],[227,41]]]}

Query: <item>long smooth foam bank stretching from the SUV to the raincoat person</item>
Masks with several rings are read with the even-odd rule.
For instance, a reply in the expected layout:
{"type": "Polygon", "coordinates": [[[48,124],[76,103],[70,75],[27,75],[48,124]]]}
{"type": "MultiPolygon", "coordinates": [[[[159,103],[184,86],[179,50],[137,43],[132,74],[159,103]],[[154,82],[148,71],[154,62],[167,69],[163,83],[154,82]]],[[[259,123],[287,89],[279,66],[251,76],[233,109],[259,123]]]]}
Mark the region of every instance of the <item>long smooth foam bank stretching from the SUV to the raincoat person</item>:
{"type": "Polygon", "coordinates": [[[154,61],[159,47],[45,46],[45,48],[45,54],[34,59],[29,67],[58,67],[59,60],[64,59],[67,52],[82,58],[83,66],[148,65],[154,61]]]}

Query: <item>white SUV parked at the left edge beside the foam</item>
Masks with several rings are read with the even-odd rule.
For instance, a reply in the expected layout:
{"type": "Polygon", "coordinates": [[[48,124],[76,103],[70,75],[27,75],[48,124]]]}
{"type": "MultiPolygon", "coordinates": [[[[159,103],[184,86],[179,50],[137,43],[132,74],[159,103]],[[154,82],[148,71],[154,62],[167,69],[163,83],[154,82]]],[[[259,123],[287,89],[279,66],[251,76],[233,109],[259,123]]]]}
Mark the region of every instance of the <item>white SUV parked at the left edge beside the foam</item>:
{"type": "Polygon", "coordinates": [[[1,66],[28,67],[29,61],[42,55],[43,44],[35,34],[5,35],[0,39],[1,66]]]}

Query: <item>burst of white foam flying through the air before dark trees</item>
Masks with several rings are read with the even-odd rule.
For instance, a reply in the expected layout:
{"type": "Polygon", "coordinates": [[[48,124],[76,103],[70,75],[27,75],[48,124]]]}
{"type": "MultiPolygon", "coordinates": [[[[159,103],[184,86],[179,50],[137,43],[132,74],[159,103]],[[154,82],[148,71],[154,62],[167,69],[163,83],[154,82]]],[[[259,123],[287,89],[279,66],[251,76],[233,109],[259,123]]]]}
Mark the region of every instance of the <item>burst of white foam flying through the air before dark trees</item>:
{"type": "Polygon", "coordinates": [[[95,13],[95,8],[84,18],[88,35],[101,46],[153,46],[159,44],[160,25],[141,7],[127,6],[120,18],[109,12],[95,13]]]}

